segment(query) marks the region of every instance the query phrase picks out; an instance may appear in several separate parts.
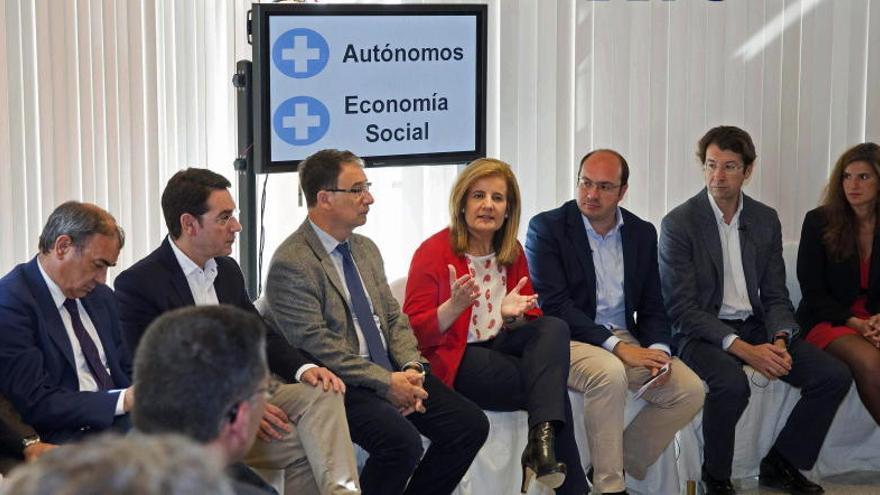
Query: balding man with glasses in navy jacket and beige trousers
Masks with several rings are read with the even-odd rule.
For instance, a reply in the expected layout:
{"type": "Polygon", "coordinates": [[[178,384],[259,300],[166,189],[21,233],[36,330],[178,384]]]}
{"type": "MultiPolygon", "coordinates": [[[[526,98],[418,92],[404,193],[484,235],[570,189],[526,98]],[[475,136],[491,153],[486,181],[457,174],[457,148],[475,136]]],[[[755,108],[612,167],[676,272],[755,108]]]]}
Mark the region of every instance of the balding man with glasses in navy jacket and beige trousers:
{"type": "Polygon", "coordinates": [[[571,328],[569,386],[584,393],[591,481],[602,493],[625,493],[624,469],[644,479],[704,397],[696,374],[671,357],[657,231],[619,206],[628,178],[616,151],[588,153],[577,199],[535,216],[526,238],[541,309],[571,328]],[[644,393],[647,406],[624,431],[627,389],[661,369],[669,371],[644,393]]]}

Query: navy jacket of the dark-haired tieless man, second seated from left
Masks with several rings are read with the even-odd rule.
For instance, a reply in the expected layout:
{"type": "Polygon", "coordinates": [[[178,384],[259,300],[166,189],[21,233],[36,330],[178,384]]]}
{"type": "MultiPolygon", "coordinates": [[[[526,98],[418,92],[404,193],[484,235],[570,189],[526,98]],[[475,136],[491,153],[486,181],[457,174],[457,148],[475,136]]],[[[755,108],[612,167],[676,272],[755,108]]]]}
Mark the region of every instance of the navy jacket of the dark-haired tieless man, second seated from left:
{"type": "MultiPolygon", "coordinates": [[[[166,238],[147,257],[120,273],[114,282],[122,328],[132,355],[154,319],[166,311],[195,304],[170,242],[166,238]]],[[[259,314],[245,290],[238,263],[228,256],[218,256],[214,261],[217,262],[217,278],[214,279],[217,301],[259,314]]],[[[266,354],[269,369],[288,382],[294,382],[296,370],[312,361],[288,344],[274,327],[268,327],[266,354]]]]}

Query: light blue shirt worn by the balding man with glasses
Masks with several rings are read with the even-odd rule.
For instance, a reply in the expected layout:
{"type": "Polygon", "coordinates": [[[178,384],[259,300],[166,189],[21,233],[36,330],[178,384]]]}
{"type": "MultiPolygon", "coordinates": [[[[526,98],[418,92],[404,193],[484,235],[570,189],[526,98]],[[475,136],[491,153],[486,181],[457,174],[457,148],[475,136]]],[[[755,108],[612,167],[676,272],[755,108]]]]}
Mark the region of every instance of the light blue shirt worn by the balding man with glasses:
{"type": "MultiPolygon", "coordinates": [[[[626,296],[623,287],[623,238],[620,228],[623,226],[623,214],[620,208],[615,213],[617,223],[604,236],[596,232],[590,219],[581,215],[587,239],[592,250],[593,269],[596,272],[596,318],[595,322],[609,330],[626,328],[626,296]]],[[[611,352],[620,339],[614,335],[605,339],[602,347],[611,352]]],[[[671,349],[665,344],[652,344],[653,349],[660,349],[672,355],[671,349]]]]}

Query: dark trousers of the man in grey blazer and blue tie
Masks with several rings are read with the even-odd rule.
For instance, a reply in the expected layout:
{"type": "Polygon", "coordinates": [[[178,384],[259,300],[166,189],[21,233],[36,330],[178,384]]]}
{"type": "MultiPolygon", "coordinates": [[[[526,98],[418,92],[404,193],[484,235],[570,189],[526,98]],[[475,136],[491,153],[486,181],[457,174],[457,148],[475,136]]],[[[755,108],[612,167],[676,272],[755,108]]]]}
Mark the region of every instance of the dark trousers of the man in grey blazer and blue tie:
{"type": "Polygon", "coordinates": [[[360,475],[364,495],[452,493],[486,441],[489,420],[473,402],[431,375],[425,391],[426,412],[408,416],[371,389],[345,392],[351,439],[370,454],[360,475]],[[420,434],[431,440],[424,457],[420,434]]]}

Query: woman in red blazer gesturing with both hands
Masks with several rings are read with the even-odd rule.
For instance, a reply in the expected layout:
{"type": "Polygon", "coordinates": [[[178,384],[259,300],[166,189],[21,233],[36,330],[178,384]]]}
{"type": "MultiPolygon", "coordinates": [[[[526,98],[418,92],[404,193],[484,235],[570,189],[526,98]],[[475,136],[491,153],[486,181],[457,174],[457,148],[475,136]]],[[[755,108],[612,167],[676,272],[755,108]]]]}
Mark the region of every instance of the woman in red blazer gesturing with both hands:
{"type": "Polygon", "coordinates": [[[472,162],[449,211],[450,227],[422,243],[409,269],[403,310],[419,349],[432,373],[483,409],[528,411],[523,493],[534,475],[557,493],[584,493],[566,385],[568,326],[536,306],[516,240],[520,196],[510,166],[472,162]]]}

